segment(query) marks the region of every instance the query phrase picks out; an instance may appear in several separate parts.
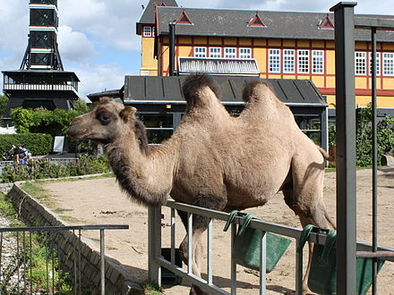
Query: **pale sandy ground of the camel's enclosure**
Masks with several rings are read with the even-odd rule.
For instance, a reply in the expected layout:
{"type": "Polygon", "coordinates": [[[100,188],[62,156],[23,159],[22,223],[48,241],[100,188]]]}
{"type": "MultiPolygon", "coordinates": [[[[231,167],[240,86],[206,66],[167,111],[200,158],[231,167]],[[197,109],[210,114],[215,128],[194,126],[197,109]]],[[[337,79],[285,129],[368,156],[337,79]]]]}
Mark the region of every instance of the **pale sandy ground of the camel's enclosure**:
{"type": "MultiPolygon", "coordinates": [[[[47,204],[55,209],[65,222],[71,224],[129,224],[130,230],[107,231],[107,255],[115,257],[138,278],[147,279],[148,240],[147,209],[129,201],[116,184],[114,178],[98,178],[79,181],[40,182],[51,201],[47,204]]],[[[326,173],[324,196],[330,215],[335,217],[335,173],[326,173]]],[[[357,240],[372,240],[372,172],[357,172],[357,240]]],[[[379,172],[379,244],[394,248],[394,169],[379,172]]],[[[285,205],[278,193],[267,205],[248,210],[261,219],[300,227],[294,213],[285,205]]],[[[170,245],[170,211],[163,209],[162,247],[170,245]]],[[[179,222],[179,220],[177,221],[179,222]]],[[[183,240],[184,228],[176,227],[176,245],[183,240]]],[[[215,221],[213,240],[213,282],[229,291],[230,287],[230,243],[228,232],[223,232],[224,223],[215,221]]],[[[98,241],[94,232],[83,235],[98,241]]],[[[307,247],[305,247],[306,249],[307,247]]],[[[305,252],[306,255],[306,252],[305,252]]],[[[306,257],[306,256],[304,256],[306,257]]],[[[306,260],[306,258],[304,258],[306,260]]],[[[205,261],[204,261],[205,263],[205,261]]],[[[306,264],[306,261],[304,261],[306,264]]],[[[204,264],[203,264],[204,265],[204,264]]],[[[379,294],[394,294],[394,263],[386,263],[378,281],[379,294]]],[[[239,294],[257,294],[259,277],[254,271],[237,267],[237,291],[239,294]]],[[[166,286],[165,294],[188,294],[188,282],[166,286]]],[[[268,294],[283,294],[295,289],[295,242],[293,241],[273,272],[267,274],[268,294]]]]}

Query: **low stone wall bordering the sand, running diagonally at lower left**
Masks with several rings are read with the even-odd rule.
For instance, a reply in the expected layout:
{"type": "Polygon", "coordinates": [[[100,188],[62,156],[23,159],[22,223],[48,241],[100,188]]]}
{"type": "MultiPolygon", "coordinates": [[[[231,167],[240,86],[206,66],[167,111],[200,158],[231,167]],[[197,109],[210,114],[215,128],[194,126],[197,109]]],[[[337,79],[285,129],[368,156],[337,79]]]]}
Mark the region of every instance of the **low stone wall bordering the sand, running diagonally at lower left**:
{"type": "MultiPolygon", "coordinates": [[[[14,184],[9,192],[9,198],[16,207],[21,220],[29,226],[64,226],[62,220],[56,217],[46,206],[32,198],[14,184]]],[[[50,240],[58,249],[61,265],[70,274],[74,272],[74,258],[79,261],[81,254],[81,285],[93,287],[93,293],[100,292],[100,253],[95,250],[90,240],[79,238],[78,232],[50,232],[50,240]]],[[[123,265],[111,257],[105,258],[106,265],[106,294],[140,294],[141,286],[128,274],[123,265]]],[[[79,270],[78,270],[79,272],[79,270]]]]}

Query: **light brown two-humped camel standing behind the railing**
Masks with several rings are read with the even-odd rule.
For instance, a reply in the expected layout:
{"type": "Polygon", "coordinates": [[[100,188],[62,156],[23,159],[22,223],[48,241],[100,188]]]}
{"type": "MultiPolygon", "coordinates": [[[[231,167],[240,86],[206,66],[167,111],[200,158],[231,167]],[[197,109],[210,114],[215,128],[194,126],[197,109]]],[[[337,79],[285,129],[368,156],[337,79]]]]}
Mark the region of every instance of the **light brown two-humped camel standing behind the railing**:
{"type": "MultiPolygon", "coordinates": [[[[239,117],[227,113],[209,76],[189,76],[183,91],[182,122],[158,147],[148,145],[136,108],[108,97],[76,117],[67,132],[103,144],[120,187],[145,206],[165,205],[171,197],[229,212],[262,206],[282,190],[303,225],[335,227],[323,202],[328,155],[304,135],[267,84],[245,86],[246,106],[239,117]]],[[[200,276],[201,234],[208,223],[206,217],[193,217],[192,270],[200,276]]],[[[180,245],[186,264],[187,247],[186,235],[180,245]]],[[[205,292],[193,285],[191,294],[205,292]]]]}

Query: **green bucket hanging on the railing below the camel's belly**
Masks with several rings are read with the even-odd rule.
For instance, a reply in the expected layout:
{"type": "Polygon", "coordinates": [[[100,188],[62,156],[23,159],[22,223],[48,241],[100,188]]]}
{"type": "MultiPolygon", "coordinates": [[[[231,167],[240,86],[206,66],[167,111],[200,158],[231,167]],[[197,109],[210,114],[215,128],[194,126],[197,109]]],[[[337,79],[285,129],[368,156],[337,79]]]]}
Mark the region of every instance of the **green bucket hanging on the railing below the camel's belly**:
{"type": "MultiPolygon", "coordinates": [[[[251,220],[257,219],[255,215],[245,215],[235,210],[228,217],[224,231],[226,232],[236,215],[244,216],[244,224],[238,228],[233,247],[233,259],[237,265],[260,271],[260,240],[261,231],[248,228],[251,220]]],[[[278,264],[280,257],[286,252],[291,240],[277,234],[266,232],[266,273],[270,273],[278,264]]]]}

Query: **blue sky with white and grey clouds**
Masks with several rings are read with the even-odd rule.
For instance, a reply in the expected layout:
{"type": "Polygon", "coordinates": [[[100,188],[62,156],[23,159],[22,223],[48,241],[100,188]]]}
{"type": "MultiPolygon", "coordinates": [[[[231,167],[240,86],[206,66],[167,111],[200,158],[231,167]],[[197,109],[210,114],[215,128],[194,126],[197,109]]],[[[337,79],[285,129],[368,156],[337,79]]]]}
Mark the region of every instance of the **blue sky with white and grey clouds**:
{"type": "MultiPolygon", "coordinates": [[[[0,0],[0,71],[19,70],[28,44],[29,0],[0,0]]],[[[141,36],[135,24],[149,0],[58,0],[57,43],[64,71],[80,78],[80,97],[120,89],[139,75],[141,36]]],[[[328,13],[338,0],[176,0],[194,8],[328,13]]],[[[360,0],[355,13],[394,14],[392,0],[360,0]]],[[[3,84],[2,84],[3,88],[3,84]]],[[[1,90],[0,90],[1,93],[1,90]]]]}

